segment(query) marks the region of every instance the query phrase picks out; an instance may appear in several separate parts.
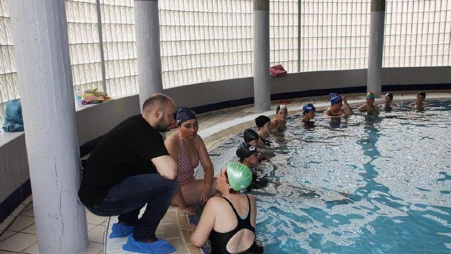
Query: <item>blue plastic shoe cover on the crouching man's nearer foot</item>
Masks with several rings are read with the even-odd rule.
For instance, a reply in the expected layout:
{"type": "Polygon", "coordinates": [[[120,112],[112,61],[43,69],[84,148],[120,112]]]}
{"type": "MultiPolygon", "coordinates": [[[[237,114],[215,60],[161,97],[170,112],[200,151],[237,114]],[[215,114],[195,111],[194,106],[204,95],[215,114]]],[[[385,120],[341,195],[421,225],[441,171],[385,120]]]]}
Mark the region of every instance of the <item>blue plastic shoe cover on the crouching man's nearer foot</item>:
{"type": "Polygon", "coordinates": [[[133,235],[129,237],[127,243],[122,246],[122,249],[148,254],[167,254],[175,251],[174,246],[165,240],[158,239],[153,243],[138,242],[133,238],[133,235]]]}

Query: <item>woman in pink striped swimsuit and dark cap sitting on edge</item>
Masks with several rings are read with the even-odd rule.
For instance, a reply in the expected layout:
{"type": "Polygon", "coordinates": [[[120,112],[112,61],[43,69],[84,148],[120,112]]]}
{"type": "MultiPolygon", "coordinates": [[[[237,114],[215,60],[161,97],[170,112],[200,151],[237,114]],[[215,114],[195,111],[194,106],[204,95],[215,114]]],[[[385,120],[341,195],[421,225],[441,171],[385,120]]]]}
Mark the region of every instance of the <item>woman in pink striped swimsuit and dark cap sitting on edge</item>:
{"type": "Polygon", "coordinates": [[[177,180],[180,188],[171,204],[188,214],[194,214],[192,205],[204,205],[216,193],[213,178],[213,163],[203,140],[197,135],[199,124],[196,113],[182,107],[176,114],[178,130],[165,141],[172,158],[177,161],[177,180]],[[194,169],[200,164],[204,179],[194,179],[194,169]]]}

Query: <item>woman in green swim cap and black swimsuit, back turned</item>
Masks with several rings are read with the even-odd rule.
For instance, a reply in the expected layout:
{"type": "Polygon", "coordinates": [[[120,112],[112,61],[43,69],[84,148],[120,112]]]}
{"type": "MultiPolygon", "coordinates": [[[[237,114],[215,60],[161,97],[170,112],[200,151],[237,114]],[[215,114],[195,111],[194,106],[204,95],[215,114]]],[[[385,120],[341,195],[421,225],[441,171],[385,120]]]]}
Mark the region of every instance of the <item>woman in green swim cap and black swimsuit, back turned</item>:
{"type": "Polygon", "coordinates": [[[255,199],[239,192],[251,181],[251,170],[241,163],[229,162],[221,169],[216,190],[222,197],[208,200],[198,225],[187,225],[195,246],[202,247],[210,239],[212,254],[263,252],[263,247],[255,244],[255,199]]]}

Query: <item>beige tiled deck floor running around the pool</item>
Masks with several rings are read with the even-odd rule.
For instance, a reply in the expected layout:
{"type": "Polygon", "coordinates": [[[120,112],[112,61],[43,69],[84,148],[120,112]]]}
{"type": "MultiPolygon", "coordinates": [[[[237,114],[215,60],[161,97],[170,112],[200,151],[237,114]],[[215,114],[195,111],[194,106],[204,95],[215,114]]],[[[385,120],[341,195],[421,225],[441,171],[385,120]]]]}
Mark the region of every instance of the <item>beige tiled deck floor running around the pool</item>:
{"type": "MultiPolygon", "coordinates": [[[[394,92],[395,101],[413,101],[418,91],[394,92]]],[[[365,101],[364,93],[342,94],[350,104],[362,104],[365,101]]],[[[451,99],[451,91],[428,91],[427,100],[451,99]]],[[[383,96],[376,100],[383,102],[383,96]]],[[[293,100],[272,102],[270,111],[256,111],[253,105],[236,108],[221,109],[198,115],[199,135],[202,136],[208,150],[212,150],[219,142],[229,135],[242,131],[254,125],[255,115],[274,115],[279,104],[286,104],[289,114],[297,114],[306,103],[313,103],[318,111],[324,110],[329,104],[328,96],[303,97],[293,100]]],[[[172,130],[175,131],[175,130],[172,130]]],[[[11,253],[38,253],[36,229],[34,224],[33,204],[26,205],[25,209],[12,214],[15,221],[5,230],[0,231],[0,254],[11,253]]],[[[98,217],[87,211],[89,249],[86,253],[104,252],[104,234],[109,229],[107,218],[98,217]]],[[[111,222],[114,218],[111,219],[111,222]]],[[[4,223],[2,223],[3,225],[4,223]]],[[[185,230],[185,216],[176,207],[170,207],[157,228],[157,236],[167,239],[176,248],[176,253],[199,253],[199,250],[189,241],[189,232],[185,230]]],[[[0,227],[1,230],[1,227],[0,227]]],[[[108,243],[107,243],[108,244],[108,243]]],[[[108,252],[113,253],[113,252],[108,252]]],[[[120,250],[118,252],[120,253],[120,250]]]]}

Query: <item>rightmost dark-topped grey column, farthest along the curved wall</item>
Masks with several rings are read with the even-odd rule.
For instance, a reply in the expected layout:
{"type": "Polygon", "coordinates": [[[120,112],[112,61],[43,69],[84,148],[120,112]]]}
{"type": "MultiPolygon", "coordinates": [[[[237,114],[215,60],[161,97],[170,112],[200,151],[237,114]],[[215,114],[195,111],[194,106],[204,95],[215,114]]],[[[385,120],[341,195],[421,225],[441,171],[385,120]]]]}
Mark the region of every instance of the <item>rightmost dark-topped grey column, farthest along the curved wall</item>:
{"type": "Polygon", "coordinates": [[[379,97],[382,89],[385,0],[371,0],[370,48],[368,49],[368,92],[379,97]]]}

